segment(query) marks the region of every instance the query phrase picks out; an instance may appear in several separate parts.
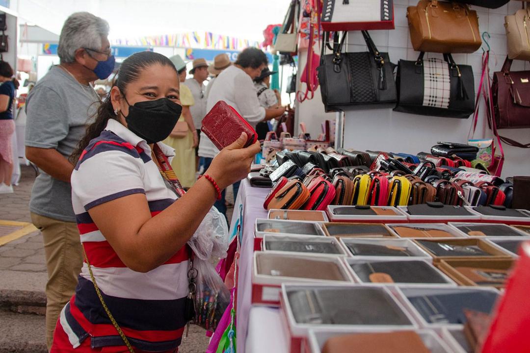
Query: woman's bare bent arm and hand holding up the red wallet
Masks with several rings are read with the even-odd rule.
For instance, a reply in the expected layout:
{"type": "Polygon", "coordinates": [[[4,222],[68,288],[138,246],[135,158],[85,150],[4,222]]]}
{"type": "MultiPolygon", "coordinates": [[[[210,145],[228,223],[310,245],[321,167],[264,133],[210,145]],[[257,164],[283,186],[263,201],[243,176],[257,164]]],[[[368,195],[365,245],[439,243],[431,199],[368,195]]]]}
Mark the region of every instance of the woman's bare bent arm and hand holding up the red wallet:
{"type": "MultiPolygon", "coordinates": [[[[221,189],[246,177],[259,143],[242,149],[246,135],[220,151],[205,174],[221,189]]],[[[133,194],[94,206],[89,214],[123,263],[139,272],[164,264],[193,236],[214,204],[216,191],[200,178],[179,200],[151,217],[144,194],[133,194]]]]}

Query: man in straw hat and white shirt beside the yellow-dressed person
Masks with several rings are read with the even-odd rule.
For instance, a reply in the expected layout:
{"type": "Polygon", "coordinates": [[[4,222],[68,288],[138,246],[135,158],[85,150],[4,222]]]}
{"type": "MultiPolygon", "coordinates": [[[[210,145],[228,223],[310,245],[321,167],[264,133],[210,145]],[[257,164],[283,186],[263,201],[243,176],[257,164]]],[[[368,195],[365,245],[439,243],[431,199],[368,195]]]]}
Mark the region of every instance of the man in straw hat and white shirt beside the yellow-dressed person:
{"type": "MultiPolygon", "coordinates": [[[[193,124],[197,128],[197,135],[199,135],[202,119],[206,115],[206,86],[204,85],[204,82],[208,78],[208,64],[206,59],[199,58],[193,60],[190,75],[193,75],[193,78],[188,78],[184,83],[191,90],[191,94],[195,100],[195,105],[190,107],[190,111],[193,124]]],[[[195,149],[195,155],[198,160],[198,149],[195,149]]]]}

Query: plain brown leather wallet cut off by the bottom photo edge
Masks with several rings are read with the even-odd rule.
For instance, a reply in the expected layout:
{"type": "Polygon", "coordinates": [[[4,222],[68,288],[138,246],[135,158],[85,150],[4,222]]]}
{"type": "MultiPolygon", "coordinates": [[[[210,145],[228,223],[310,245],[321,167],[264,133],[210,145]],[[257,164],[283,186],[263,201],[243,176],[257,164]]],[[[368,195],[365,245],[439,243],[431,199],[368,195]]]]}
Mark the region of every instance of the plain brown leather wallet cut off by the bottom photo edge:
{"type": "Polygon", "coordinates": [[[414,331],[352,333],[335,336],[324,343],[322,353],[429,353],[414,331]]]}

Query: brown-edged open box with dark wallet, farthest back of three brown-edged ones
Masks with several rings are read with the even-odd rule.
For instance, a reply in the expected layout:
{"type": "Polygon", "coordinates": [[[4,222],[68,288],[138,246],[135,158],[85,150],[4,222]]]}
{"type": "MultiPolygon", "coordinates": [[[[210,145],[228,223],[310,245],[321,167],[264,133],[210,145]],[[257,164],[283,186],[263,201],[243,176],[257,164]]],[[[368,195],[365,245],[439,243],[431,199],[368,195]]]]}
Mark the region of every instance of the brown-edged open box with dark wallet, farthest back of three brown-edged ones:
{"type": "Polygon", "coordinates": [[[322,229],[328,237],[397,238],[384,224],[376,223],[323,223],[322,229]]]}

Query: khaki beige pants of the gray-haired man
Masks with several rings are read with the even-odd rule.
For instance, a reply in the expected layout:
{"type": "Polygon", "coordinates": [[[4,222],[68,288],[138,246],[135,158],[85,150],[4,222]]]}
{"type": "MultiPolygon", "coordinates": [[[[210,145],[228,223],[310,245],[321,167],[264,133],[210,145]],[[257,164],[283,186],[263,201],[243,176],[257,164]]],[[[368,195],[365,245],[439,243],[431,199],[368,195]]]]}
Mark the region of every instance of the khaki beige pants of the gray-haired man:
{"type": "Polygon", "coordinates": [[[77,224],[31,213],[31,221],[42,232],[48,282],[46,283],[46,344],[54,338],[59,314],[77,286],[83,266],[83,250],[77,224]]]}

